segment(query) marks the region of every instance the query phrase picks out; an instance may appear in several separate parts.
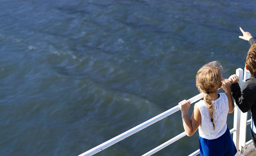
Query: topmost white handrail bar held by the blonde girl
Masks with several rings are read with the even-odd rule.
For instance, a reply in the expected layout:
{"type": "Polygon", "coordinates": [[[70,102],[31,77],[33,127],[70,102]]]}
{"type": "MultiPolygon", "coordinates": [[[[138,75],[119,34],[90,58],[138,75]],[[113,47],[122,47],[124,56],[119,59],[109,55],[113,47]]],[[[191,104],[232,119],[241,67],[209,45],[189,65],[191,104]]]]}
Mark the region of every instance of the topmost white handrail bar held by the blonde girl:
{"type": "MultiPolygon", "coordinates": [[[[200,100],[203,97],[204,97],[204,94],[200,93],[200,94],[190,98],[189,100],[192,104],[192,103],[200,100]]],[[[148,121],[145,121],[145,122],[141,123],[140,125],[135,126],[132,129],[129,129],[126,132],[124,132],[124,133],[122,133],[122,134],[120,134],[120,135],[118,135],[118,136],[116,136],[116,137],[114,137],[114,138],[112,138],[112,139],[110,139],[110,140],[108,140],[108,141],[90,149],[89,151],[86,151],[86,152],[80,154],[79,156],[91,156],[93,154],[96,154],[96,153],[108,148],[109,146],[111,146],[113,144],[116,144],[117,142],[125,139],[126,137],[131,136],[132,134],[134,134],[136,132],[139,132],[142,129],[145,129],[146,127],[156,123],[157,121],[160,121],[160,120],[164,119],[165,117],[167,117],[167,116],[169,116],[169,115],[171,115],[171,114],[173,114],[173,113],[175,113],[179,110],[180,110],[179,105],[176,105],[175,107],[172,107],[171,109],[169,109],[169,110],[167,110],[167,111],[149,119],[148,121]]]]}

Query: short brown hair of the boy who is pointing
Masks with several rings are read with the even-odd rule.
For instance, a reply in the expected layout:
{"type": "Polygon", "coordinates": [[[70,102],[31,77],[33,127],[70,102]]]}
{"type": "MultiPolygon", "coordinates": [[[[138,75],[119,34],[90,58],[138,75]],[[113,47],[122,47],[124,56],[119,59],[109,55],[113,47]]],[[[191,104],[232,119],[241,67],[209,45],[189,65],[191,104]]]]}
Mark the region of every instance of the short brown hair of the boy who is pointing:
{"type": "Polygon", "coordinates": [[[244,62],[252,76],[256,78],[256,43],[250,47],[244,62]]]}

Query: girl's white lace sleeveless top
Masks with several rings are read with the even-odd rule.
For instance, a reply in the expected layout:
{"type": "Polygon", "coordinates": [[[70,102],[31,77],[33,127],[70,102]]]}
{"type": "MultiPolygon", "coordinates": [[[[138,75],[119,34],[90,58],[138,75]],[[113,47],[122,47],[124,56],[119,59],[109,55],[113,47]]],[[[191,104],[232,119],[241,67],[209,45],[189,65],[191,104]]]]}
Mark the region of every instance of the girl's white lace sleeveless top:
{"type": "Polygon", "coordinates": [[[212,101],[213,106],[213,121],[215,124],[215,132],[213,131],[213,125],[211,122],[211,115],[208,106],[204,100],[200,100],[196,103],[201,113],[201,124],[198,131],[199,136],[205,139],[216,139],[222,136],[227,130],[227,116],[228,116],[228,97],[224,93],[220,93],[220,97],[215,101],[212,101]]]}

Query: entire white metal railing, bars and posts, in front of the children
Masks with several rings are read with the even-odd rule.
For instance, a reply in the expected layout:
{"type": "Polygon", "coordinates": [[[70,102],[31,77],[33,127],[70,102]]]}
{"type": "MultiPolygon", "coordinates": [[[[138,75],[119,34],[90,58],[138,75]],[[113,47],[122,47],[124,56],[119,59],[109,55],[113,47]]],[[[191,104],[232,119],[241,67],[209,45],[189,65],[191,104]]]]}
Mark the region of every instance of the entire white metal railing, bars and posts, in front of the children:
{"type": "MultiPolygon", "coordinates": [[[[244,69],[244,80],[243,80],[243,69],[241,68],[238,68],[236,69],[236,75],[238,76],[239,78],[239,85],[240,87],[243,86],[244,82],[246,79],[250,78],[251,77],[251,74],[248,70],[244,69]]],[[[200,93],[192,98],[190,98],[190,102],[191,104],[200,100],[201,98],[203,98],[204,94],[203,93],[200,93]]],[[[139,132],[140,130],[142,129],[145,129],[146,127],[156,123],[157,121],[160,121],[162,119],[164,119],[165,117],[179,111],[180,108],[179,108],[179,105],[176,105],[175,107],[172,107],[171,109],[149,119],[148,121],[145,121],[143,123],[141,123],[140,125],[138,126],[135,126],[134,128],[132,129],[129,129],[127,130],[126,132],[80,154],[79,156],[91,156],[91,155],[94,155],[106,148],[108,148],[109,146],[113,145],[113,144],[116,144],[117,142],[123,140],[124,138],[128,137],[128,136],[131,136],[132,134],[134,133],[137,133],[139,132]]],[[[250,124],[251,123],[251,119],[247,121],[247,113],[242,113],[238,106],[235,104],[235,108],[234,108],[234,128],[230,130],[230,133],[233,133],[233,141],[236,145],[236,148],[237,148],[237,151],[240,150],[240,152],[236,153],[236,156],[237,155],[242,155],[244,156],[244,152],[245,150],[247,150],[246,148],[249,146],[249,145],[252,145],[252,140],[250,140],[249,142],[245,142],[245,138],[246,138],[246,125],[250,124]]],[[[161,144],[159,146],[157,146],[156,148],[152,149],[151,151],[143,154],[142,156],[150,156],[156,152],[158,152],[159,150],[163,149],[164,147],[172,144],[173,142],[179,140],[180,138],[186,136],[186,133],[185,132],[182,132],[180,133],[179,135],[173,137],[172,139],[170,139],[169,141],[165,142],[164,144],[161,144]]],[[[254,146],[253,146],[254,147],[254,146]]],[[[248,149],[252,149],[252,147],[248,148],[248,149]]],[[[248,151],[248,150],[247,150],[248,151]]],[[[199,149],[196,150],[195,152],[191,153],[189,156],[195,156],[197,154],[199,154],[200,151],[199,149]]]]}

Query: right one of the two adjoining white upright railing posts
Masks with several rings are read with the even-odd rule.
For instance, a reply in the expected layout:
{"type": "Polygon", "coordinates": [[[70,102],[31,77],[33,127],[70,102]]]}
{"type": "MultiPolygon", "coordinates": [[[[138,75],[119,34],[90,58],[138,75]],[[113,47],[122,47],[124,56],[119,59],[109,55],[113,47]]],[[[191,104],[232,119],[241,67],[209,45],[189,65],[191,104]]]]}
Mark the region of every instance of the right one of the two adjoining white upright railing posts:
{"type": "MultiPolygon", "coordinates": [[[[244,85],[245,80],[251,77],[251,73],[245,69],[244,67],[244,80],[243,83],[239,84],[240,88],[244,85]]],[[[240,155],[244,156],[244,150],[245,150],[245,143],[246,143],[246,122],[247,122],[247,112],[242,113],[241,112],[241,118],[240,118],[240,135],[239,135],[239,150],[240,155]]]]}

